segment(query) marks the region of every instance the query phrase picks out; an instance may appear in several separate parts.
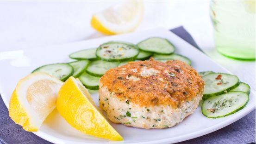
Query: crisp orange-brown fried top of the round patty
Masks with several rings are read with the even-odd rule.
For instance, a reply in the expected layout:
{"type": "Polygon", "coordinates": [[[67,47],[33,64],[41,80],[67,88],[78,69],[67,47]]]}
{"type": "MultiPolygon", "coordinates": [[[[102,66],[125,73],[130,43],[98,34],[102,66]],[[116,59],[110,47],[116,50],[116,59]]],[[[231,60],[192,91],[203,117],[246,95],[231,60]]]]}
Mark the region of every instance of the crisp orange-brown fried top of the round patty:
{"type": "Polygon", "coordinates": [[[141,106],[166,104],[178,107],[203,91],[204,81],[196,70],[179,60],[129,62],[109,69],[100,78],[120,99],[129,99],[141,106]],[[144,71],[151,71],[147,75],[144,71]]]}

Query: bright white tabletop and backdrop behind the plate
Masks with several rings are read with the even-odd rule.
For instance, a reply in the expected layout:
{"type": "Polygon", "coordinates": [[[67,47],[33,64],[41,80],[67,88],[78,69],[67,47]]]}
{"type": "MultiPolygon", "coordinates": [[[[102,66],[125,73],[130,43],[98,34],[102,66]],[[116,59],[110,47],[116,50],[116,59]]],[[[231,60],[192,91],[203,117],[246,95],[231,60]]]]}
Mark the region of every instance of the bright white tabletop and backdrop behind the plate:
{"type": "MultiPolygon", "coordinates": [[[[90,26],[90,19],[95,12],[117,2],[0,1],[0,52],[106,36],[90,26]]],[[[136,31],[184,26],[209,57],[255,91],[255,61],[233,60],[216,52],[209,3],[208,0],[144,1],[144,17],[136,31]]]]}

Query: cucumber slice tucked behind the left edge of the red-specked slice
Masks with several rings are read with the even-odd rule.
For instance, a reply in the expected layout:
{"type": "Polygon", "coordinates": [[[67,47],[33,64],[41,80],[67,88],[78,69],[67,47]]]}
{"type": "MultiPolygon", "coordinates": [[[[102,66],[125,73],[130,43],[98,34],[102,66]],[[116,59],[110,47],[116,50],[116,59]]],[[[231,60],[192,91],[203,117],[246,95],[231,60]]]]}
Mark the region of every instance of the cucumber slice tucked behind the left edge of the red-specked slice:
{"type": "Polygon", "coordinates": [[[91,48],[91,49],[73,52],[73,53],[69,54],[69,58],[78,59],[78,60],[80,60],[80,59],[95,60],[95,59],[97,59],[96,50],[97,50],[97,48],[91,48]]]}

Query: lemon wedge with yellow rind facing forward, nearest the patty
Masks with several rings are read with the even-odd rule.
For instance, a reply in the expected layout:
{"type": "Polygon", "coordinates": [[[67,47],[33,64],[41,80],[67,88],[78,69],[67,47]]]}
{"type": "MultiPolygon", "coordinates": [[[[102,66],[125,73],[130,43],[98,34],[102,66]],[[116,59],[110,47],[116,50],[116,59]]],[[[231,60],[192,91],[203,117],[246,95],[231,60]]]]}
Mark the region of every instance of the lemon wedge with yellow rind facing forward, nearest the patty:
{"type": "Polygon", "coordinates": [[[56,107],[72,127],[83,133],[110,140],[123,140],[97,109],[88,90],[74,77],[69,77],[62,85],[56,107]]]}

